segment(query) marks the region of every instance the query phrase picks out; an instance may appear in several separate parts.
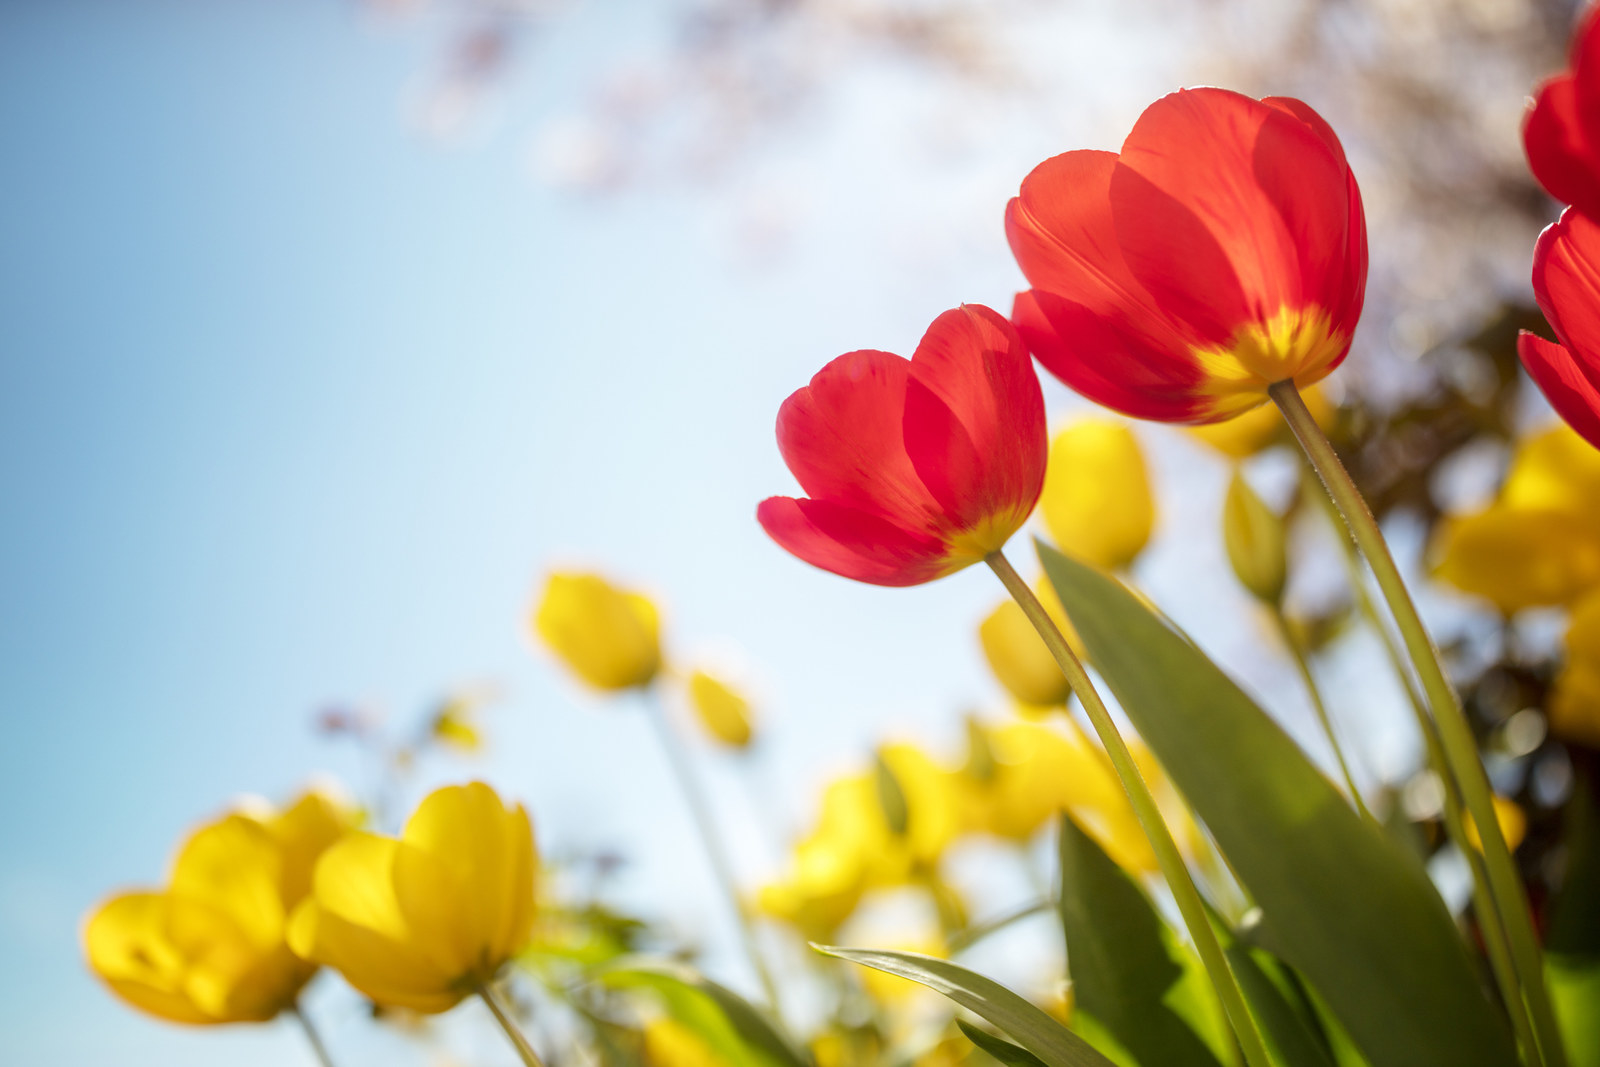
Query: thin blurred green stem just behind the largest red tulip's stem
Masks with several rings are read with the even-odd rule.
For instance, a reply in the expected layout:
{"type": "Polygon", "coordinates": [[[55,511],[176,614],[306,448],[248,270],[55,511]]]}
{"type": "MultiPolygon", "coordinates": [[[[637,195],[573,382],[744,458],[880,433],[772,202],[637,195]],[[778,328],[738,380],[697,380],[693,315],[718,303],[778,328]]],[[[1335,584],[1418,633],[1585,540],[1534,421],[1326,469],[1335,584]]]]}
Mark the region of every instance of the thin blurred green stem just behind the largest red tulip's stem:
{"type": "MultiPolygon", "coordinates": [[[[1328,518],[1339,525],[1339,515],[1328,502],[1328,518]]],[[[1362,574],[1362,563],[1355,557],[1355,547],[1347,537],[1339,537],[1344,545],[1344,561],[1350,574],[1350,587],[1355,590],[1355,601],[1362,609],[1362,616],[1366,619],[1366,625],[1378,635],[1378,643],[1384,649],[1384,656],[1389,659],[1389,667],[1394,670],[1395,681],[1405,691],[1406,704],[1411,709],[1411,717],[1416,720],[1416,729],[1422,736],[1427,747],[1427,766],[1438,777],[1440,785],[1445,790],[1445,801],[1440,809],[1445,816],[1445,833],[1454,843],[1456,849],[1467,859],[1467,865],[1472,872],[1472,913],[1477,915],[1478,929],[1483,931],[1483,945],[1490,957],[1490,971],[1494,974],[1494,984],[1501,990],[1501,1000],[1506,1003],[1506,1011],[1510,1014],[1512,1029],[1517,1032],[1517,1043],[1523,1049],[1523,1057],[1528,1062],[1538,1062],[1538,1038],[1533,1032],[1533,1021],[1528,1017],[1528,1005],[1522,995],[1522,985],[1517,981],[1517,968],[1510,958],[1510,945],[1506,942],[1506,928],[1499,921],[1499,912],[1494,910],[1494,901],[1490,897],[1488,873],[1483,870],[1483,859],[1478,856],[1477,848],[1467,838],[1466,821],[1461,817],[1461,790],[1456,789],[1456,779],[1450,776],[1450,768],[1445,765],[1445,752],[1438,744],[1438,731],[1434,729],[1434,720],[1427,717],[1427,707],[1422,704],[1422,697],[1418,696],[1416,686],[1411,683],[1411,672],[1406,667],[1405,654],[1395,646],[1394,635],[1389,633],[1389,627],[1384,624],[1382,617],[1378,614],[1378,606],[1373,603],[1371,595],[1366,592],[1366,577],[1362,574]]]]}

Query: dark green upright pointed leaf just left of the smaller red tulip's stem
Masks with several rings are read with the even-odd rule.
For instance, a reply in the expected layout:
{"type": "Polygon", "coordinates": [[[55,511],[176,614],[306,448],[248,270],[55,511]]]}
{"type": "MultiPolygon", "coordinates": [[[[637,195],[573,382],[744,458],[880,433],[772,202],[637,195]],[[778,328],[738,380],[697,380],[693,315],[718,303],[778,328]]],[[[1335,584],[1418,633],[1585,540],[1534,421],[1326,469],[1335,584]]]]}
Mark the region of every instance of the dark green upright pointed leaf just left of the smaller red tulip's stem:
{"type": "Polygon", "coordinates": [[[1187,966],[1187,952],[1144,889],[1067,814],[1059,854],[1058,910],[1075,1009],[1093,1016],[1134,1064],[1219,1067],[1194,1029],[1216,1016],[1210,985],[1187,966]]]}

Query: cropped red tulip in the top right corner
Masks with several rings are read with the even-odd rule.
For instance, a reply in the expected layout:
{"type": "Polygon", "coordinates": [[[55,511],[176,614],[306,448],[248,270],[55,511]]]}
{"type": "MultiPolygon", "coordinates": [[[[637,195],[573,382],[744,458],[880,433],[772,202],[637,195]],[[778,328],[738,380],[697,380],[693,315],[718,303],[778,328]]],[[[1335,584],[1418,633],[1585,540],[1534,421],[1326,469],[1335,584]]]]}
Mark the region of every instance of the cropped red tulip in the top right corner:
{"type": "Polygon", "coordinates": [[[1522,123],[1528,168],[1546,192],[1600,218],[1600,8],[1573,34],[1571,69],[1539,86],[1522,123]]]}

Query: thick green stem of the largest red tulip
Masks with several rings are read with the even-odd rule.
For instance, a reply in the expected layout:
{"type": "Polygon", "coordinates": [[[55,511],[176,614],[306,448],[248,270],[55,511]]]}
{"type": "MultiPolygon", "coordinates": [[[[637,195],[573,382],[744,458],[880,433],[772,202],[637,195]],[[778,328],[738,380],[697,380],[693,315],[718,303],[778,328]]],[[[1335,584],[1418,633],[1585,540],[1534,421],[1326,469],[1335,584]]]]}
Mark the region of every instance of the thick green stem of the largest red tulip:
{"type": "Polygon", "coordinates": [[[1310,411],[1306,410],[1306,402],[1301,398],[1294,382],[1275,382],[1267,389],[1267,395],[1278,405],[1283,421],[1290,424],[1290,430],[1293,430],[1294,438],[1306,453],[1306,459],[1310,461],[1312,470],[1317,472],[1323,488],[1328,491],[1328,498],[1339,509],[1339,515],[1344,517],[1344,525],[1350,537],[1354,537],[1362,557],[1366,558],[1366,565],[1378,581],[1378,589],[1389,605],[1395,627],[1400,630],[1400,640],[1405,645],[1411,667],[1416,670],[1418,681],[1421,681],[1429,713],[1437,729],[1440,753],[1445,761],[1445,777],[1454,779],[1464,806],[1472,816],[1472,822],[1478,829],[1478,838],[1483,843],[1482,857],[1488,878],[1490,904],[1498,912],[1499,925],[1506,931],[1517,981],[1528,1001],[1528,1014],[1533,1017],[1534,1035],[1538,1037],[1538,1048],[1528,1049],[1528,1053],[1536,1057],[1533,1062],[1547,1064],[1549,1067],[1566,1067],[1566,1054],[1562,1048],[1560,1030],[1555,1025],[1555,1013],[1550,1008],[1550,997],[1544,987],[1544,961],[1539,953],[1539,942],[1533,933],[1528,897],[1523,891],[1522,878],[1517,875],[1517,867],[1512,862],[1510,848],[1506,846],[1506,837],[1501,833],[1499,819],[1494,816],[1493,793],[1490,792],[1488,776],[1483,773],[1483,763],[1478,758],[1477,739],[1472,736],[1472,726],[1461,709],[1461,701],[1456,697],[1456,691],[1445,675],[1434,638],[1429,637],[1427,629],[1422,625],[1416,603],[1411,600],[1411,592],[1400,576],[1400,568],[1395,566],[1394,555],[1389,552],[1389,542],[1384,541],[1378,520],[1373,518],[1371,509],[1366,507],[1366,501],[1362,498],[1360,490],[1355,488],[1350,472],[1339,461],[1333,443],[1322,432],[1322,427],[1317,426],[1310,411]]]}

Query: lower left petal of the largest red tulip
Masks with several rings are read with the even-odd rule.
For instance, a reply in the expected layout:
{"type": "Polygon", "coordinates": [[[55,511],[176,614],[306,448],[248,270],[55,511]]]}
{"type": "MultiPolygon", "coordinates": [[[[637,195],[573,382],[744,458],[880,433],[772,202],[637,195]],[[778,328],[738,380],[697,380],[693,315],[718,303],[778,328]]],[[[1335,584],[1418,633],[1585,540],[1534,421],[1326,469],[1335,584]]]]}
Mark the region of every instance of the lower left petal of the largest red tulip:
{"type": "MultiPolygon", "coordinates": [[[[1038,290],[1018,293],[1011,322],[1045,370],[1114,411],[1160,422],[1227,418],[1205,395],[1198,365],[1082,304],[1038,290]]],[[[1229,413],[1246,406],[1254,402],[1229,413]]]]}

